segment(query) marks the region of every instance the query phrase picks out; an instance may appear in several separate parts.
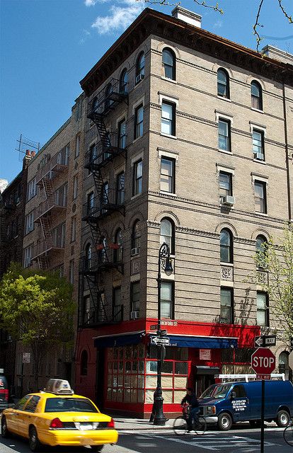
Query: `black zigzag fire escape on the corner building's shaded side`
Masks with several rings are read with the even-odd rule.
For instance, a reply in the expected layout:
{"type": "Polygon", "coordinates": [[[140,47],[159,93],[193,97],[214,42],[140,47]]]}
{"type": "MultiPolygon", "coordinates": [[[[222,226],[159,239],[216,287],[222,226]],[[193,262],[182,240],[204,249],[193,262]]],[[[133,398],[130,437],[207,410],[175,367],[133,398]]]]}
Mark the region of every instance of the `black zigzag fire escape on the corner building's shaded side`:
{"type": "MultiPolygon", "coordinates": [[[[124,86],[125,88],[125,86],[124,86]]],[[[126,134],[119,130],[110,134],[105,127],[105,118],[121,103],[128,102],[127,91],[122,91],[120,82],[112,79],[98,95],[88,104],[88,118],[96,124],[100,141],[93,145],[86,154],[84,167],[93,175],[95,193],[88,194],[83,206],[82,220],[91,229],[93,246],[84,251],[80,263],[80,325],[93,327],[105,323],[117,323],[123,319],[123,306],[107,303],[104,292],[104,276],[108,270],[123,273],[122,244],[119,239],[115,243],[103,237],[101,222],[113,213],[125,215],[124,176],[120,185],[110,188],[105,180],[104,169],[117,156],[126,159],[126,134]],[[84,289],[90,293],[85,304],[84,289]]]]}

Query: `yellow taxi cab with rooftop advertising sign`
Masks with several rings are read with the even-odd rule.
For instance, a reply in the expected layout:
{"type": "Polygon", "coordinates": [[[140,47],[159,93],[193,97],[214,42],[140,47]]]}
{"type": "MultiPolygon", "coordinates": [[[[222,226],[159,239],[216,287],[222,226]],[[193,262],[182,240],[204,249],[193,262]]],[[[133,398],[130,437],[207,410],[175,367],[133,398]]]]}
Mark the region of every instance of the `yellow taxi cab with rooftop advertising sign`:
{"type": "Polygon", "coordinates": [[[42,445],[90,445],[91,451],[100,452],[118,440],[113,418],[100,413],[90,399],[75,395],[63,379],[49,379],[44,391],[23,396],[2,412],[1,435],[10,433],[27,438],[32,452],[42,445]]]}

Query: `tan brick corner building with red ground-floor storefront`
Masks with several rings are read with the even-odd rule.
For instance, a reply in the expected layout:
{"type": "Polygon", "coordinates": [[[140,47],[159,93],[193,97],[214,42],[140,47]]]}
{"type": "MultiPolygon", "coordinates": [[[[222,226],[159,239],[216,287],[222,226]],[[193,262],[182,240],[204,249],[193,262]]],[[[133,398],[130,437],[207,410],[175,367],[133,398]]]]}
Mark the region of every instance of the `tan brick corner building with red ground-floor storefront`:
{"type": "MultiPolygon", "coordinates": [[[[186,384],[198,395],[219,372],[251,372],[254,337],[275,324],[267,294],[246,280],[261,243],[292,219],[292,57],[279,52],[280,61],[273,48],[271,58],[270,47],[263,57],[200,21],[180,7],[173,17],[146,8],[81,81],[75,389],[145,417],[156,389],[160,245],[173,264],[171,276],[161,270],[168,416],[186,384]]],[[[284,345],[275,353],[284,365],[284,345]]]]}

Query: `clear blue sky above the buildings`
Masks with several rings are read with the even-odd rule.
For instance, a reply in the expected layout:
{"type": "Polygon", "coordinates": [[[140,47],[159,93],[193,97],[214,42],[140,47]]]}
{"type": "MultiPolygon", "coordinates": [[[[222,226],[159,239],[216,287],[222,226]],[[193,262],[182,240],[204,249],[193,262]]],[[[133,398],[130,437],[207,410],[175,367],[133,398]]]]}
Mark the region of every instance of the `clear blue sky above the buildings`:
{"type": "MultiPolygon", "coordinates": [[[[202,28],[255,49],[259,0],[206,1],[218,2],[224,15],[193,0],[181,6],[202,15],[202,28]]],[[[289,15],[292,3],[283,0],[289,15]]],[[[21,171],[20,134],[42,147],[67,120],[81,93],[79,81],[146,6],[166,14],[174,7],[142,0],[0,0],[0,178],[11,182],[21,171]]],[[[293,54],[293,24],[277,0],[264,1],[260,23],[267,37],[261,47],[293,54]]]]}

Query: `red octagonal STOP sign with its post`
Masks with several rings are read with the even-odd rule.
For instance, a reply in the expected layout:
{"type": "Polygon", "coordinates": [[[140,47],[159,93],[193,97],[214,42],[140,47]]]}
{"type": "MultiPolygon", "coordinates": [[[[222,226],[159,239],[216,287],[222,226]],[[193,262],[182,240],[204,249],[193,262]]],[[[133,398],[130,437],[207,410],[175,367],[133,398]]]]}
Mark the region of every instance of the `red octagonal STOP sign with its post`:
{"type": "Polygon", "coordinates": [[[261,381],[261,430],[260,453],[264,453],[265,445],[265,379],[270,379],[271,372],[275,369],[276,359],[272,351],[267,348],[258,348],[251,355],[251,368],[256,373],[256,379],[261,381]]]}

